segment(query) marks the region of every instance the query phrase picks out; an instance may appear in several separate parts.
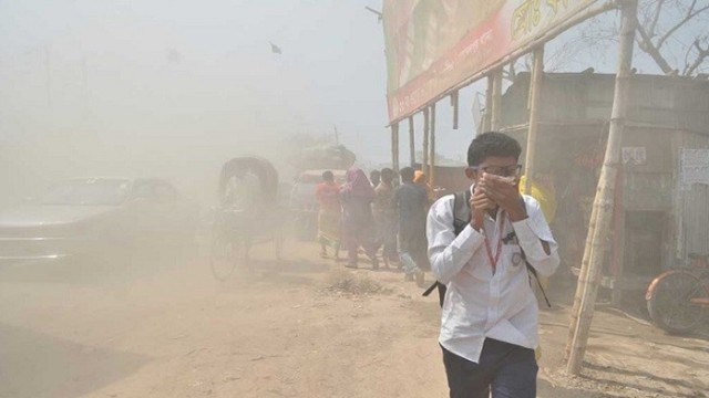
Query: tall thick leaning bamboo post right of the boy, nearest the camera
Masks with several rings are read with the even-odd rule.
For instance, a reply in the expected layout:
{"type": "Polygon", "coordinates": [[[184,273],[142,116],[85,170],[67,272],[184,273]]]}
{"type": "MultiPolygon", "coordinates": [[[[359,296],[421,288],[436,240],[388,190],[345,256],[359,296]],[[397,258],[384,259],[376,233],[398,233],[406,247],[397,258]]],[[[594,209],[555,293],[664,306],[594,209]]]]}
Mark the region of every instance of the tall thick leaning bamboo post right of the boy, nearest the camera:
{"type": "Polygon", "coordinates": [[[620,43],[618,46],[618,73],[616,75],[616,86],[613,100],[613,111],[610,116],[610,129],[608,132],[608,144],[604,164],[600,169],[598,189],[594,200],[596,210],[596,227],[594,228],[590,260],[588,263],[588,283],[584,287],[580,308],[577,315],[574,337],[571,344],[571,352],[566,370],[571,375],[578,375],[586,353],[588,332],[594,316],[596,294],[598,293],[598,281],[603,270],[605,253],[605,241],[610,227],[610,216],[613,211],[614,189],[616,184],[617,168],[620,159],[620,144],[625,118],[627,117],[628,102],[630,94],[630,67],[633,66],[633,44],[635,41],[635,30],[637,27],[637,0],[627,0],[620,3],[623,10],[623,22],[620,25],[620,43]]]}

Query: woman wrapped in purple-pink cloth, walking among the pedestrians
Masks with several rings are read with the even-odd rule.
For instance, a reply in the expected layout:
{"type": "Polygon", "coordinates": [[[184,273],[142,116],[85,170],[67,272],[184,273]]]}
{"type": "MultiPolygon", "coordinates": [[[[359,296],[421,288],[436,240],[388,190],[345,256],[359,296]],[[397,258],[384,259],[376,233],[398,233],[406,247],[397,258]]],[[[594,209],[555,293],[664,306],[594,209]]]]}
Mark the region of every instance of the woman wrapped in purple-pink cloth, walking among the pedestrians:
{"type": "Polygon", "coordinates": [[[361,245],[372,262],[372,269],[379,269],[371,208],[374,197],[374,189],[364,171],[357,167],[347,170],[347,184],[340,189],[340,200],[342,202],[342,242],[348,252],[348,268],[357,268],[357,251],[361,245]]]}

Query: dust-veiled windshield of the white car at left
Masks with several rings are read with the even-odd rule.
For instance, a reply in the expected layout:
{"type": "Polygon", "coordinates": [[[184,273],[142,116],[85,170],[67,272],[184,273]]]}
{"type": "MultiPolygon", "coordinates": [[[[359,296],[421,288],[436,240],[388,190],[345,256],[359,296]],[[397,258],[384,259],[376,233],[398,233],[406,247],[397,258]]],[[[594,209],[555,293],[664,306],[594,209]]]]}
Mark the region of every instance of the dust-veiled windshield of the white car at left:
{"type": "Polygon", "coordinates": [[[40,197],[40,205],[121,205],[130,184],[124,179],[70,180],[53,186],[40,197]]]}

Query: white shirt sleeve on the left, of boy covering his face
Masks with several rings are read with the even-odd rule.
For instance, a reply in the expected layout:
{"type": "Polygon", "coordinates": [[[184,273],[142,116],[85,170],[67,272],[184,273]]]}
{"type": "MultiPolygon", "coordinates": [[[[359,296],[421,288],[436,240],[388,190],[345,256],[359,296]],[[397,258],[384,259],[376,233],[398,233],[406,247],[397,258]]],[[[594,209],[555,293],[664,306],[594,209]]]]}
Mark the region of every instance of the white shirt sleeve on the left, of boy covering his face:
{"type": "Polygon", "coordinates": [[[455,235],[453,202],[453,196],[439,199],[429,210],[427,222],[431,271],[443,284],[448,284],[463,269],[484,242],[483,234],[470,224],[455,235]]]}

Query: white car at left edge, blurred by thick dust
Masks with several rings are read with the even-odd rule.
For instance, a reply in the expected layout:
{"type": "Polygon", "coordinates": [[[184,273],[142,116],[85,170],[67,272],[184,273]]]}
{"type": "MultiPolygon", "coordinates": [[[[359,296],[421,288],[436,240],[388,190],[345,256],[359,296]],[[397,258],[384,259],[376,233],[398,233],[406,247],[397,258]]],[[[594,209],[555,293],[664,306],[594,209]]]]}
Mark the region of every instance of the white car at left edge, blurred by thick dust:
{"type": "Polygon", "coordinates": [[[70,260],[194,237],[196,208],[163,179],[76,178],[0,212],[0,261],[70,260]]]}

